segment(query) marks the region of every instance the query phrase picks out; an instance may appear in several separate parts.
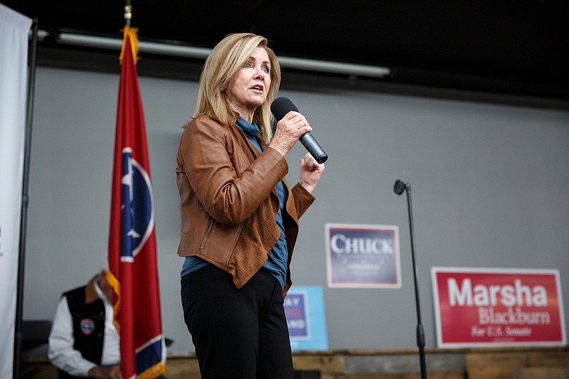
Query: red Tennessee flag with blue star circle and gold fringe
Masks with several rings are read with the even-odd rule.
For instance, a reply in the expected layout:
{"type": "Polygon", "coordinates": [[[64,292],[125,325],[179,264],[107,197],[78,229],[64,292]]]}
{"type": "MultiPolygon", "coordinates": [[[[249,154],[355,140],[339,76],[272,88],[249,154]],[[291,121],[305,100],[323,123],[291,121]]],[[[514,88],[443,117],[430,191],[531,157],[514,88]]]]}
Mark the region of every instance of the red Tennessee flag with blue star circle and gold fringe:
{"type": "Polygon", "coordinates": [[[107,277],[115,289],[123,379],[166,371],[162,334],[154,204],[147,136],[137,78],[137,29],[124,27],[112,171],[107,277]]]}

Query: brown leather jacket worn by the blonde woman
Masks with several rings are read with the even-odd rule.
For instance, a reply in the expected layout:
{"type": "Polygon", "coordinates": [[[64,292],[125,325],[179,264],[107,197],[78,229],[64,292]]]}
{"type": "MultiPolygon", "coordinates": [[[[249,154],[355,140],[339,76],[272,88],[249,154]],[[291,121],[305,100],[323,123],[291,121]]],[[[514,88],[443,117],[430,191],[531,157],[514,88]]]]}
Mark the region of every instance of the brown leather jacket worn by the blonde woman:
{"type": "Polygon", "coordinates": [[[199,116],[186,125],[176,161],[181,210],[178,255],[213,263],[232,274],[238,288],[261,268],[279,238],[275,186],[280,180],[285,183],[286,294],[292,283],[290,260],[298,219],[314,197],[300,183],[289,187],[285,157],[264,146],[260,154],[235,125],[199,116]]]}

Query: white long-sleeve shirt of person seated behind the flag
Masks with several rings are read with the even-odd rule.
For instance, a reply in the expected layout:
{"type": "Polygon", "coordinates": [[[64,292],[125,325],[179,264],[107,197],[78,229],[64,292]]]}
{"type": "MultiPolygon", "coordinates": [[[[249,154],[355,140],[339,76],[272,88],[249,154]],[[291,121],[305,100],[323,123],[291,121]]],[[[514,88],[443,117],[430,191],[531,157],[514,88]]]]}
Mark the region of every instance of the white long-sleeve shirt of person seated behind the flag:
{"type": "MultiPolygon", "coordinates": [[[[105,338],[103,340],[101,365],[115,365],[120,362],[119,334],[112,324],[112,304],[102,293],[95,280],[95,290],[105,304],[105,338]]],[[[73,348],[73,318],[69,311],[67,297],[62,296],[55,311],[49,335],[48,358],[60,370],[73,376],[89,376],[87,373],[95,363],[87,361],[80,351],[73,348]]]]}

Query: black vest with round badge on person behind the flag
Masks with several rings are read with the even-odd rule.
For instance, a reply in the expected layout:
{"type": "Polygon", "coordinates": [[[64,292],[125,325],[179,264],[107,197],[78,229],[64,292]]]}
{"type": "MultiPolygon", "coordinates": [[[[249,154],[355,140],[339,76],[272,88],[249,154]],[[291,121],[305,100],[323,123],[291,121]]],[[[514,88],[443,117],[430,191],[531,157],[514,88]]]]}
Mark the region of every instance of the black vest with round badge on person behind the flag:
{"type": "MultiPolygon", "coordinates": [[[[85,286],[65,292],[69,311],[73,319],[73,347],[81,352],[83,358],[101,364],[102,343],[105,338],[105,304],[101,299],[85,304],[85,286]]],[[[60,379],[75,378],[58,370],[60,379]]]]}

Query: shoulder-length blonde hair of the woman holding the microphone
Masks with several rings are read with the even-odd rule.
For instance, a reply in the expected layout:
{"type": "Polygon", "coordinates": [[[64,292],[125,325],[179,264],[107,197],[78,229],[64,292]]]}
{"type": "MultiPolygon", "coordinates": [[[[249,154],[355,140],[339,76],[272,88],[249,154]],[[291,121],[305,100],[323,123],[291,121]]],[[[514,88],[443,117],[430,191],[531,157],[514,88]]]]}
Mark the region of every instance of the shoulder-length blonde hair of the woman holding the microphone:
{"type": "Polygon", "coordinates": [[[253,122],[261,131],[261,140],[269,144],[272,138],[272,117],[270,106],[280,87],[280,64],[277,55],[269,48],[269,41],[254,33],[233,33],[225,36],[206,59],[200,76],[198,102],[193,117],[207,114],[220,124],[233,124],[238,112],[229,106],[223,90],[238,73],[257,47],[264,48],[271,64],[271,85],[267,100],[255,110],[253,122]]]}

